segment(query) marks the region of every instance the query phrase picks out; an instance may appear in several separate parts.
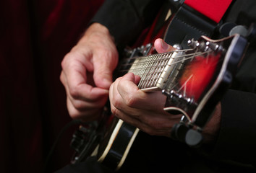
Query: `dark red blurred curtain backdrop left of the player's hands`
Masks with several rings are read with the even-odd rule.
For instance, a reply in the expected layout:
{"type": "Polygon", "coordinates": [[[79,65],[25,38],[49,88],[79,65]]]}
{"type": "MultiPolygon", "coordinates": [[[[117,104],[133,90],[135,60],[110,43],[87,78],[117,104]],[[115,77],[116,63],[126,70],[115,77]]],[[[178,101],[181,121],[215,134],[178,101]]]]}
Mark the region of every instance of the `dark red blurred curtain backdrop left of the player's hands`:
{"type": "MultiPolygon", "coordinates": [[[[71,120],[59,75],[103,0],[2,1],[0,6],[1,172],[41,172],[56,136],[71,120]]],[[[73,130],[64,133],[51,169],[69,164],[73,130]]]]}

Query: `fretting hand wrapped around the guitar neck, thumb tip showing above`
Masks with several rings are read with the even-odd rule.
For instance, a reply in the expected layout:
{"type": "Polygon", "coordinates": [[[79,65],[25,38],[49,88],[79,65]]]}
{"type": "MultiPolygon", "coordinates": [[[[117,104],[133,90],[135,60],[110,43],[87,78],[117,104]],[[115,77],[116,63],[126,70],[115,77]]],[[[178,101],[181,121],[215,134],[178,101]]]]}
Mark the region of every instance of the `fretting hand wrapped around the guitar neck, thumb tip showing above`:
{"type": "MultiPolygon", "coordinates": [[[[155,49],[158,53],[174,50],[159,39],[155,40],[155,49]]],[[[161,92],[142,92],[137,86],[139,81],[140,76],[132,73],[114,81],[109,94],[113,114],[150,135],[170,137],[172,126],[182,116],[164,111],[166,96],[161,92]]]]}

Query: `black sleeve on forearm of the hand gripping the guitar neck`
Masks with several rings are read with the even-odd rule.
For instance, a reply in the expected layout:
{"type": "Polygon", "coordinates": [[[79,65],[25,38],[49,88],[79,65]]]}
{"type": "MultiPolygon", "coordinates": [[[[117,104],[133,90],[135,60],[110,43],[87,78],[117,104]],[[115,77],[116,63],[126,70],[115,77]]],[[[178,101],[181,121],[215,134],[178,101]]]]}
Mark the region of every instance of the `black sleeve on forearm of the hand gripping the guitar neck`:
{"type": "Polygon", "coordinates": [[[221,101],[221,129],[214,154],[256,163],[256,94],[229,89],[221,101]]]}

